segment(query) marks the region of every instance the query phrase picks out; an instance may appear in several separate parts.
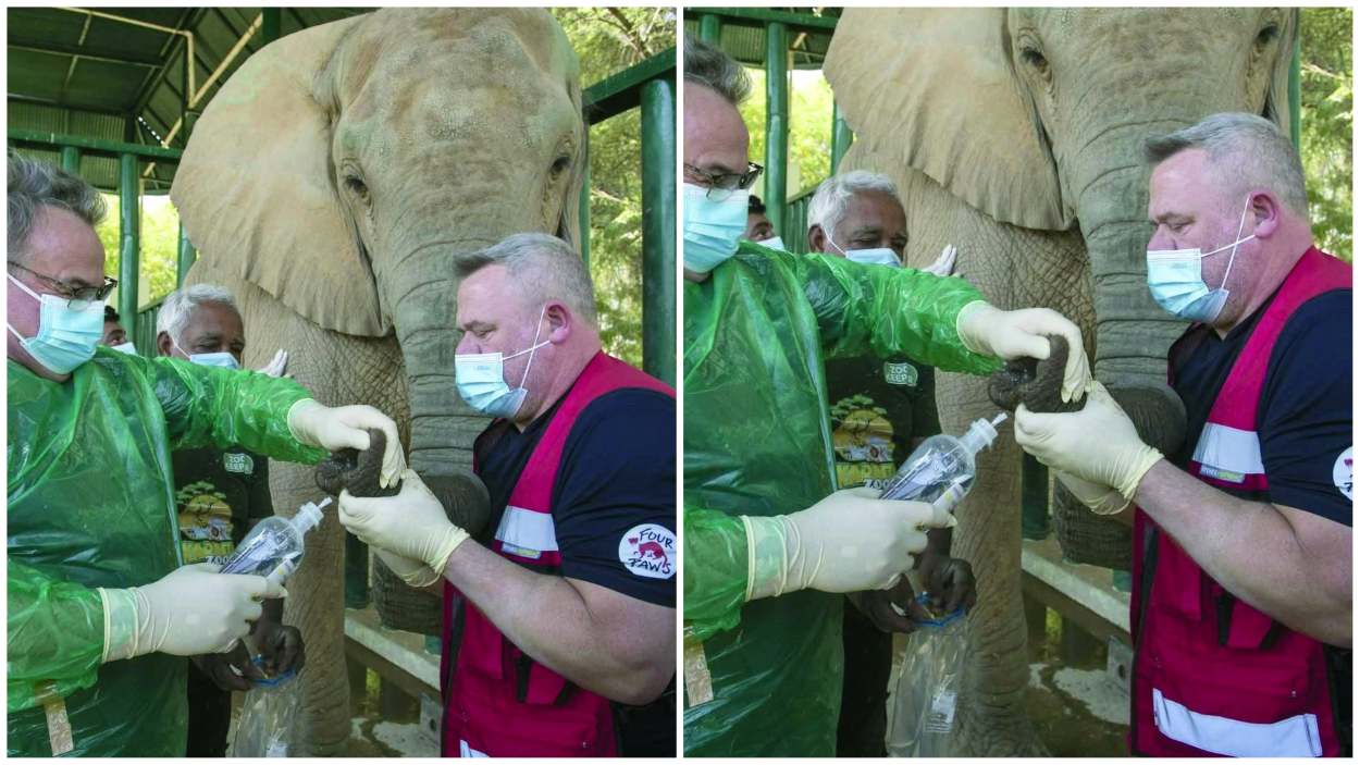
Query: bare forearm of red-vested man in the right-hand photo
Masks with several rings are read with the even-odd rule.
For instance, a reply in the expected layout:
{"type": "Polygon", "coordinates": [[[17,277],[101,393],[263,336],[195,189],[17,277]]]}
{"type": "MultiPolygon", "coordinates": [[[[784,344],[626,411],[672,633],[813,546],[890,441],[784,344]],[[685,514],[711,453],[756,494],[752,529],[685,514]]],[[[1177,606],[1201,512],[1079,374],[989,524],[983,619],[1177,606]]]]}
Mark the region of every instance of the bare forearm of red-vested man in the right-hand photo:
{"type": "Polygon", "coordinates": [[[1167,460],[1144,475],[1134,501],[1236,598],[1291,629],[1350,644],[1349,592],[1321,584],[1341,564],[1310,554],[1274,505],[1238,500],[1167,460]]]}

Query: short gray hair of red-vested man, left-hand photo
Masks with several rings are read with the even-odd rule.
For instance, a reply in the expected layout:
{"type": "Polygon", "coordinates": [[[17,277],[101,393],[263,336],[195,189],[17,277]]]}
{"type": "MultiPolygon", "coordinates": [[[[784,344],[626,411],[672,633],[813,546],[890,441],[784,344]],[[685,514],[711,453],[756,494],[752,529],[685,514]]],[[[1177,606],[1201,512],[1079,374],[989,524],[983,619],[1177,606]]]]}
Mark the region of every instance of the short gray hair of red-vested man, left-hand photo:
{"type": "Polygon", "coordinates": [[[477,252],[454,256],[454,275],[461,280],[487,265],[499,264],[517,283],[534,290],[543,302],[560,299],[590,327],[596,324],[594,284],[590,271],[571,245],[548,234],[514,234],[477,252]]]}

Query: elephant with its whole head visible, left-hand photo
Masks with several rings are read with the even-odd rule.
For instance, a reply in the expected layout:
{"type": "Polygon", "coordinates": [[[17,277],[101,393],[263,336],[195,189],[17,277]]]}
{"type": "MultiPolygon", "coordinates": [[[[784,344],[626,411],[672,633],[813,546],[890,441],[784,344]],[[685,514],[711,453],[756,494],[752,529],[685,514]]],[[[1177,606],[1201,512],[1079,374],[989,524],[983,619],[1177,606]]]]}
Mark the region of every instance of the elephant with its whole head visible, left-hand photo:
{"type": "MultiPolygon", "coordinates": [[[[579,79],[544,10],[386,8],[267,45],[209,102],[175,174],[200,250],[186,283],[233,290],[248,366],[287,348],[318,402],[389,414],[413,470],[468,470],[487,418],[456,395],[453,259],[521,231],[579,245],[579,79]]],[[[280,515],[318,498],[309,466],[276,463],[269,485],[280,515]]],[[[337,754],[344,530],[328,513],[306,543],[284,615],[309,657],[290,743],[337,754]]]]}

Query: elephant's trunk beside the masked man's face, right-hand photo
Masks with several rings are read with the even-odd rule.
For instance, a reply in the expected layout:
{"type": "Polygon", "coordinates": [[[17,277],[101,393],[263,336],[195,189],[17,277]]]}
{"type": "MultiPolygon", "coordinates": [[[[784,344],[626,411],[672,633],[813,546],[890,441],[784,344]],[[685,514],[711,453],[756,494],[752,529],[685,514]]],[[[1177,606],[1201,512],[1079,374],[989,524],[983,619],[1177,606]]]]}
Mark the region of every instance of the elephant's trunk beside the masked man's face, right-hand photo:
{"type": "MultiPolygon", "coordinates": [[[[1159,127],[1167,132],[1176,125],[1159,127]]],[[[1141,157],[1142,135],[1118,136],[1122,151],[1104,152],[1104,167],[1083,173],[1077,215],[1091,263],[1095,377],[1125,407],[1144,440],[1168,452],[1185,436],[1185,407],[1167,385],[1167,350],[1186,323],[1164,312],[1148,291],[1151,169],[1141,157]]]]}

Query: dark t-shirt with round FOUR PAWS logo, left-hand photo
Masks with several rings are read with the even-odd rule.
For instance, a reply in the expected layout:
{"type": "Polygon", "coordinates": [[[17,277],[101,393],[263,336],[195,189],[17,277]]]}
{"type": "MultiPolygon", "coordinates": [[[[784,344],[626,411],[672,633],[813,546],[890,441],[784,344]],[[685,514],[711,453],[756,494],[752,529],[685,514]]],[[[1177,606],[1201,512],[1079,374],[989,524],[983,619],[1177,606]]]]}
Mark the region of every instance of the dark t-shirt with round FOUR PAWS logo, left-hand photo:
{"type": "MultiPolygon", "coordinates": [[[[500,423],[499,436],[488,437],[484,452],[477,453],[477,472],[491,494],[492,530],[499,527],[510,491],[558,406],[560,402],[522,433],[500,423]]],[[[590,402],[567,434],[552,486],[562,565],[532,570],[551,570],[673,608],[675,466],[675,399],[626,388],[590,402]],[[645,561],[636,554],[639,547],[645,547],[645,561]],[[662,558],[669,568],[661,565],[662,558]]]]}

